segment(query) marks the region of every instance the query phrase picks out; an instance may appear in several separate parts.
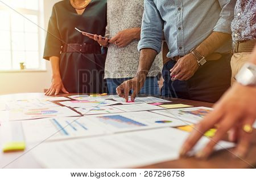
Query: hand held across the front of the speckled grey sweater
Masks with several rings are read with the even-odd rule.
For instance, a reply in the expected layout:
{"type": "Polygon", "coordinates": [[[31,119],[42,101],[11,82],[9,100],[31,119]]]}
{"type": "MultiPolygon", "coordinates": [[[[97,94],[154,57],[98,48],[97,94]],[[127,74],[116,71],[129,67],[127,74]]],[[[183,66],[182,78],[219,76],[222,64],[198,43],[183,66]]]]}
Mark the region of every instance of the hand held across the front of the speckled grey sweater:
{"type": "Polygon", "coordinates": [[[141,28],[130,28],[120,31],[109,40],[109,43],[117,45],[119,48],[123,48],[130,44],[135,38],[138,37],[138,33],[141,32],[141,28]]]}

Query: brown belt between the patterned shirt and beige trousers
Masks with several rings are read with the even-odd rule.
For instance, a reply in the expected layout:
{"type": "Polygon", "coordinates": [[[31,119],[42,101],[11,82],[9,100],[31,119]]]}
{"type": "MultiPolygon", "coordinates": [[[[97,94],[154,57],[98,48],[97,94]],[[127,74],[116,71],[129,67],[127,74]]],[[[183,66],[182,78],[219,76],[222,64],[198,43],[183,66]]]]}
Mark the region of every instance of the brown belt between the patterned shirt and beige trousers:
{"type": "Polygon", "coordinates": [[[253,52],[256,40],[249,40],[243,42],[236,42],[234,44],[233,53],[250,53],[253,52]]]}

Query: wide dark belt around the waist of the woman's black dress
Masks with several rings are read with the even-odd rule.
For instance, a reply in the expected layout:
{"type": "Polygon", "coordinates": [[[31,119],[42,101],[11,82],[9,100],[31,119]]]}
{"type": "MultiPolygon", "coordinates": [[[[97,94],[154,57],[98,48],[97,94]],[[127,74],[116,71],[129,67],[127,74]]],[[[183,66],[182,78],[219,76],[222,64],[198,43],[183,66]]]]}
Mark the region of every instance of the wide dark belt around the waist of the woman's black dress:
{"type": "Polygon", "coordinates": [[[101,54],[101,46],[95,44],[65,44],[61,53],[101,54]]]}

